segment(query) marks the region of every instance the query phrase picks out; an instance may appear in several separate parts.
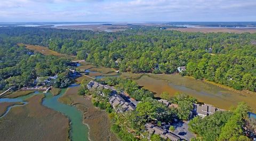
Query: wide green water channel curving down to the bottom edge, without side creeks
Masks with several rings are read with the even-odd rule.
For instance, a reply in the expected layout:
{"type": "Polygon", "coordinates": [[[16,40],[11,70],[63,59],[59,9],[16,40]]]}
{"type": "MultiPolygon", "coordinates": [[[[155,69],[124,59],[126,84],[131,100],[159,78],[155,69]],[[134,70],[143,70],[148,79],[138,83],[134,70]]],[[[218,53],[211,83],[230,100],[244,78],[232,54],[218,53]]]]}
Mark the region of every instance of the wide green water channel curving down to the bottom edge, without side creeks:
{"type": "Polygon", "coordinates": [[[70,122],[71,129],[69,135],[73,141],[89,140],[89,128],[83,124],[83,115],[81,111],[78,111],[75,106],[66,105],[60,103],[58,99],[66,92],[66,89],[61,89],[61,92],[57,96],[52,96],[51,93],[46,93],[42,104],[50,109],[65,114],[70,122]]]}

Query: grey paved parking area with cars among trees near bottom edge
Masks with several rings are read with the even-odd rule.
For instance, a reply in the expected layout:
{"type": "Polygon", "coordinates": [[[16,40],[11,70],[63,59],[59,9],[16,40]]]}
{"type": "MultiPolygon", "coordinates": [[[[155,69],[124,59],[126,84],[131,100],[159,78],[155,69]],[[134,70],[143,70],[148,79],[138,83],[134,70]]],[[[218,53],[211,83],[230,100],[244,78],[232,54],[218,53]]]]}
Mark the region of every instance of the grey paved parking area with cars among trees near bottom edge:
{"type": "Polygon", "coordinates": [[[186,139],[186,140],[190,140],[190,138],[195,137],[194,134],[192,134],[190,131],[188,131],[188,124],[183,122],[183,121],[179,121],[177,123],[173,123],[172,124],[175,127],[175,131],[173,132],[173,134],[186,139]]]}

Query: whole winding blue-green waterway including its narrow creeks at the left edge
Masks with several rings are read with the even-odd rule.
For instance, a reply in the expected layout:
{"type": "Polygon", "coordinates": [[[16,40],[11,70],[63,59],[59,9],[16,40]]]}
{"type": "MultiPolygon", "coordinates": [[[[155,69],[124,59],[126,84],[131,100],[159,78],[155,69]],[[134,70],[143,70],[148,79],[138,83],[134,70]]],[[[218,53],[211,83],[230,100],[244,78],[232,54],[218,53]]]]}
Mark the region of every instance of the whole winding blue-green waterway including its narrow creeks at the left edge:
{"type": "MultiPolygon", "coordinates": [[[[70,85],[69,87],[77,87],[78,85],[70,85]]],[[[71,140],[73,141],[86,141],[89,140],[89,128],[83,124],[83,115],[81,111],[78,111],[75,106],[66,105],[63,103],[60,103],[58,99],[65,94],[67,89],[61,89],[61,92],[57,96],[52,96],[52,94],[46,93],[45,98],[43,98],[42,105],[49,107],[50,109],[53,109],[55,111],[58,111],[64,115],[66,115],[70,121],[70,131],[69,135],[71,140]]],[[[22,104],[16,104],[13,106],[9,106],[6,110],[6,112],[0,117],[4,117],[11,109],[15,106],[23,106],[26,105],[28,102],[26,102],[26,99],[35,95],[35,94],[41,94],[39,92],[31,93],[26,96],[20,96],[17,98],[0,98],[1,102],[21,102],[22,104]]]]}

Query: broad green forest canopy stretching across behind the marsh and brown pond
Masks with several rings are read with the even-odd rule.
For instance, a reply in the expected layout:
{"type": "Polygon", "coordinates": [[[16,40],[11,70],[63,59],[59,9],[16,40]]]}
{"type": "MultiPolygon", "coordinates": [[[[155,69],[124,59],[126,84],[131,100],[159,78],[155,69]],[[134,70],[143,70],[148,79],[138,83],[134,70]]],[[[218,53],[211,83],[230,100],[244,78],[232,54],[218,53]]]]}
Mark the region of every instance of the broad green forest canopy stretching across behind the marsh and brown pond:
{"type": "MultiPolygon", "coordinates": [[[[186,66],[185,75],[253,92],[256,90],[256,45],[251,43],[255,38],[256,34],[249,33],[203,34],[139,26],[119,32],[0,28],[1,44],[47,46],[123,72],[173,73],[178,67],[186,66]]],[[[12,62],[2,61],[0,66],[10,64],[12,62]]]]}

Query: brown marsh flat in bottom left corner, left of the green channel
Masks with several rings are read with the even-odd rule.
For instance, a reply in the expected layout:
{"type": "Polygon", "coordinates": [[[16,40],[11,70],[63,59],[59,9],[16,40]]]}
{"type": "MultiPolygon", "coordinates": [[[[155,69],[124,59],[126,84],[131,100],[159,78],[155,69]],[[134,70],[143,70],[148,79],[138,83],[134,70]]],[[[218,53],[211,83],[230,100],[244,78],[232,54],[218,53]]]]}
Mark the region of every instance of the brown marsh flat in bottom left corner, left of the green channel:
{"type": "Polygon", "coordinates": [[[65,115],[41,105],[44,95],[34,95],[28,104],[13,107],[0,119],[1,140],[69,140],[65,115]]]}

